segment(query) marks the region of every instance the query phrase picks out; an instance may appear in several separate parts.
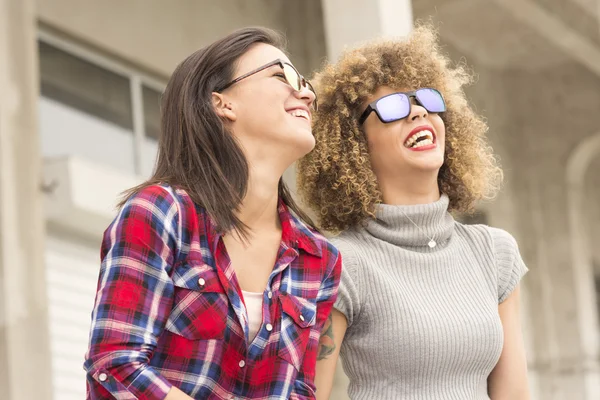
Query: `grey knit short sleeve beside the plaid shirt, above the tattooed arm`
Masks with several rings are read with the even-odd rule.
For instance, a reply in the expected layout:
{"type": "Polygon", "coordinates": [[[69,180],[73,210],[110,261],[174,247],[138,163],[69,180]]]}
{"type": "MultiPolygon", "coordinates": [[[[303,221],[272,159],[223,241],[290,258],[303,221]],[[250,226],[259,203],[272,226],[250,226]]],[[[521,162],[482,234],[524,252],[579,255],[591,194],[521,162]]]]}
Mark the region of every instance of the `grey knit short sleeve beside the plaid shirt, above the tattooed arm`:
{"type": "Polygon", "coordinates": [[[342,274],[338,297],[334,308],[346,316],[348,327],[356,320],[361,311],[361,299],[357,286],[358,268],[355,250],[346,241],[338,238],[331,239],[342,257],[342,274]]]}

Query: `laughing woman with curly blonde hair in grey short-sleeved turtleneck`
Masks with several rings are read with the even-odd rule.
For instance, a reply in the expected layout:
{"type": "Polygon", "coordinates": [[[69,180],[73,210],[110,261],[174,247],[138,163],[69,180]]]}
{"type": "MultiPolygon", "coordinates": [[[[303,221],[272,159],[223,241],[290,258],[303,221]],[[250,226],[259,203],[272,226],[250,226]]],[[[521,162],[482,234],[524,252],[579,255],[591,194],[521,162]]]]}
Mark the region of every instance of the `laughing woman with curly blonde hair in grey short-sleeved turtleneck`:
{"type": "Polygon", "coordinates": [[[320,399],[340,353],[352,399],[529,398],[517,244],[451,215],[502,180],[470,80],[428,26],[346,51],[316,76],[316,147],[299,186],[321,227],[341,232],[343,260],[320,399]]]}

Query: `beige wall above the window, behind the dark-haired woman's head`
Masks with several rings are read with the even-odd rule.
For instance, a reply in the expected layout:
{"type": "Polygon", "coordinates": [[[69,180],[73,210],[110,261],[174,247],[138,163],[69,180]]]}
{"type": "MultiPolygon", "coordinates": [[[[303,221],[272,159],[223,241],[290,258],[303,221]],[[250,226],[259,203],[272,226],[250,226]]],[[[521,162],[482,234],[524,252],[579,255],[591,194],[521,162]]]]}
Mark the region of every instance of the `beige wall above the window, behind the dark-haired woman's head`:
{"type": "Polygon", "coordinates": [[[41,22],[168,76],[186,56],[230,31],[283,31],[293,61],[309,75],[325,55],[320,0],[37,0],[41,22]]]}

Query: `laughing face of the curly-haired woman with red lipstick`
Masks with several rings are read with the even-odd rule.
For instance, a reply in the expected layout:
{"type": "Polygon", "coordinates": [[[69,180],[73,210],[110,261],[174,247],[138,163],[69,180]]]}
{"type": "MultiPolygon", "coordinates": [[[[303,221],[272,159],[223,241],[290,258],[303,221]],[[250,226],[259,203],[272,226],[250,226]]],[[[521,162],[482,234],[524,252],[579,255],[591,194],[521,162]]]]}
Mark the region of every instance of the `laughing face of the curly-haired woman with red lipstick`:
{"type": "MultiPolygon", "coordinates": [[[[396,92],[398,90],[380,87],[367,99],[363,109],[367,104],[396,92]]],[[[415,104],[414,99],[411,101],[410,114],[406,118],[383,123],[372,112],[363,124],[373,172],[380,181],[386,177],[415,173],[437,176],[444,163],[446,129],[442,118],[415,104]]]]}

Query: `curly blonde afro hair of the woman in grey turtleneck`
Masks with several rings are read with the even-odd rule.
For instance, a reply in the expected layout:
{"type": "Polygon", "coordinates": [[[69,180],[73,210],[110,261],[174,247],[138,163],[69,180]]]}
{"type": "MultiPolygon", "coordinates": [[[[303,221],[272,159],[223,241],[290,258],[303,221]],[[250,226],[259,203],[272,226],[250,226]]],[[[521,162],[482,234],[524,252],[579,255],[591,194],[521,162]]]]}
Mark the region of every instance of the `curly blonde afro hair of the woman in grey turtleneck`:
{"type": "Polygon", "coordinates": [[[375,217],[376,205],[382,202],[367,139],[358,124],[363,104],[381,86],[432,87],[443,94],[447,111],[440,116],[446,148],[438,184],[450,199],[450,211],[471,212],[477,200],[492,198],[502,170],[485,137],[486,123],[467,104],[463,86],[471,82],[464,65],[450,65],[437,31],[429,25],[417,26],[405,41],[377,40],[348,50],[317,73],[316,146],[299,161],[297,178],[320,227],[346,230],[375,217]]]}

